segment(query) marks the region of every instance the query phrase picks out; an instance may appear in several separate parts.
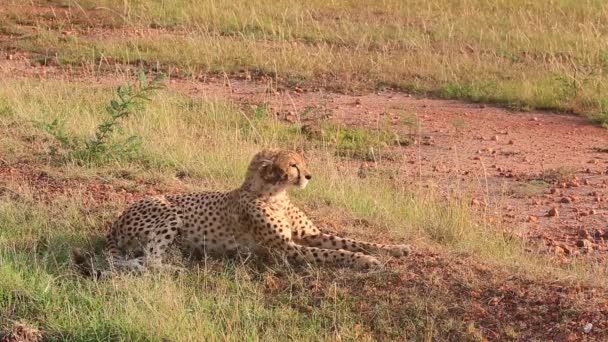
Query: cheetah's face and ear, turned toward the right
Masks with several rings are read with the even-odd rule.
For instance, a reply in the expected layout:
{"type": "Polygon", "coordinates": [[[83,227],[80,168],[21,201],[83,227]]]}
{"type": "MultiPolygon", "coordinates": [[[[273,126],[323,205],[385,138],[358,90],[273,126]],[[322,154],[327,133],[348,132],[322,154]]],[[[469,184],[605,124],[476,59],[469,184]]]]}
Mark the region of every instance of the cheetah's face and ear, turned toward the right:
{"type": "Polygon", "coordinates": [[[274,186],[298,186],[304,189],[312,175],[308,172],[302,156],[293,151],[267,150],[260,153],[262,179],[274,186]]]}

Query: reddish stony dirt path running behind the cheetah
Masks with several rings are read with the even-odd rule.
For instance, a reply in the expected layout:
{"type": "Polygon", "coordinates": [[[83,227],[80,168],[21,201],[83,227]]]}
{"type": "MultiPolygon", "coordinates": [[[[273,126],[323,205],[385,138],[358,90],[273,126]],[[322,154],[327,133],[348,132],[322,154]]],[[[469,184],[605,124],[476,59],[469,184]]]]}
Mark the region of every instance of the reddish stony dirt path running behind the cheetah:
{"type": "MultiPolygon", "coordinates": [[[[124,81],[41,66],[25,54],[0,53],[0,77],[34,75],[96,84],[124,81]]],[[[491,220],[505,222],[517,235],[540,239],[560,256],[608,255],[608,130],[585,118],[391,91],[353,96],[285,89],[272,80],[172,79],[169,86],[191,96],[267,104],[290,122],[315,125],[329,118],[348,126],[388,124],[411,133],[416,142],[388,148],[389,157],[377,163],[354,161],[355,167],[389,167],[410,186],[432,183],[470,195],[471,205],[491,220]]]]}

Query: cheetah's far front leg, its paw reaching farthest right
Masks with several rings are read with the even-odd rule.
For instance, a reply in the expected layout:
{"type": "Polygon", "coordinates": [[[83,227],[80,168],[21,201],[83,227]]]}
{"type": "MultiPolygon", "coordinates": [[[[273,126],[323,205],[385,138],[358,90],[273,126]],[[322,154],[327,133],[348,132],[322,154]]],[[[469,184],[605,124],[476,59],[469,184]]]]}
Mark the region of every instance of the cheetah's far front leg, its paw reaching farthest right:
{"type": "Polygon", "coordinates": [[[394,257],[411,253],[409,245],[383,245],[373,242],[357,241],[322,233],[300,209],[290,206],[289,218],[293,223],[294,240],[305,246],[327,249],[343,249],[351,252],[378,253],[387,251],[394,257]]]}

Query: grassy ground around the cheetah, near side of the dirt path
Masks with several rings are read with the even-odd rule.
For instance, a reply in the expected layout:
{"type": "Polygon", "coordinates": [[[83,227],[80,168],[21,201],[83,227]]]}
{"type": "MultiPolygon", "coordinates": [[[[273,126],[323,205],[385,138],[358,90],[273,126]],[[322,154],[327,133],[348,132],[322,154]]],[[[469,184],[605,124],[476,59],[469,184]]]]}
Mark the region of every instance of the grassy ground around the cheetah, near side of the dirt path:
{"type": "MultiPolygon", "coordinates": [[[[340,168],[339,142],[311,141],[262,109],[243,112],[223,99],[163,90],[118,134],[141,137],[141,149],[92,163],[69,155],[37,127],[58,118],[66,135],[90,136],[112,96],[111,86],[89,83],[0,81],[0,166],[16,168],[4,173],[0,187],[3,329],[25,322],[48,340],[82,341],[479,340],[487,336],[483,321],[457,313],[476,307],[463,293],[487,291],[493,298],[505,279],[595,286],[605,277],[601,265],[559,266],[526,252],[523,242],[496,234],[463,201],[405,189],[382,172],[360,179],[340,168]],[[179,276],[99,282],[71,268],[74,247],[101,254],[105,226],[127,201],[150,191],[235,187],[251,155],[267,145],[307,151],[315,181],[293,195],[316,208],[321,222],[348,223],[341,231],[367,239],[412,241],[440,253],[443,265],[474,261],[417,269],[413,259],[369,275],[213,261],[179,276]]],[[[583,310],[571,305],[574,313],[583,310]]],[[[525,334],[525,325],[510,322],[496,323],[500,336],[525,334]]]]}

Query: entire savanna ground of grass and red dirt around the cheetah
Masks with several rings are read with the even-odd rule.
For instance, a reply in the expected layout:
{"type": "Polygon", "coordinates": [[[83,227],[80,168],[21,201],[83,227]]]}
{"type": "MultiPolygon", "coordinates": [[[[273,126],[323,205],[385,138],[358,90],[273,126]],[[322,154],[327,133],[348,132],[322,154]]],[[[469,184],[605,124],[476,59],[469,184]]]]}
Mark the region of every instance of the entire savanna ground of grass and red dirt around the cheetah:
{"type": "Polygon", "coordinates": [[[606,340],[607,23],[592,0],[3,1],[0,340],[606,340]],[[142,70],[167,88],[90,153],[142,70]],[[265,146],[306,155],[321,227],[416,253],[72,267],[104,267],[126,204],[238,186],[265,146]]]}

